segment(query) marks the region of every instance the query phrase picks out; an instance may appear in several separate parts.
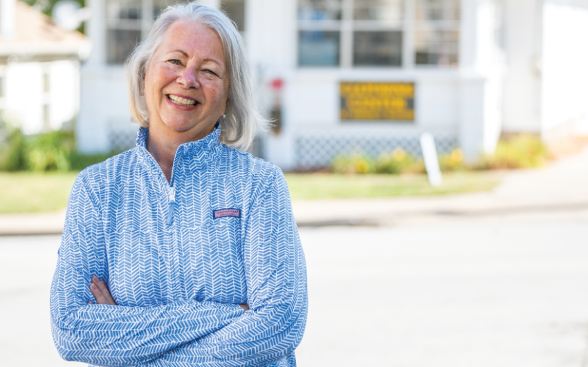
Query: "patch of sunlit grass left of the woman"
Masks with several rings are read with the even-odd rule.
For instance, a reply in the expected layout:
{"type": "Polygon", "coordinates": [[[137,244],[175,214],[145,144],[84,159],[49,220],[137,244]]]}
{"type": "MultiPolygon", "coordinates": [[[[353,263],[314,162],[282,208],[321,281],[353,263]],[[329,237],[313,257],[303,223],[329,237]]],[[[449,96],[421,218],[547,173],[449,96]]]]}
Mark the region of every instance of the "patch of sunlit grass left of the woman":
{"type": "Polygon", "coordinates": [[[0,213],[64,209],[77,173],[0,172],[0,213]]]}

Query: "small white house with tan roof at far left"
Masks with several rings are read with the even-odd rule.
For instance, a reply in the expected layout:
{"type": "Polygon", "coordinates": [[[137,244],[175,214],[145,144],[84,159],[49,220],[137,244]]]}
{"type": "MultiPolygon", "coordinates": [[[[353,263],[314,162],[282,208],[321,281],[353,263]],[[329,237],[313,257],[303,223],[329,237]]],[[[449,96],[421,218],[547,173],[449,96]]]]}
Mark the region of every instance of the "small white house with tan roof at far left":
{"type": "Polygon", "coordinates": [[[16,0],[0,1],[0,111],[24,133],[60,129],[80,108],[80,59],[90,42],[16,0]]]}

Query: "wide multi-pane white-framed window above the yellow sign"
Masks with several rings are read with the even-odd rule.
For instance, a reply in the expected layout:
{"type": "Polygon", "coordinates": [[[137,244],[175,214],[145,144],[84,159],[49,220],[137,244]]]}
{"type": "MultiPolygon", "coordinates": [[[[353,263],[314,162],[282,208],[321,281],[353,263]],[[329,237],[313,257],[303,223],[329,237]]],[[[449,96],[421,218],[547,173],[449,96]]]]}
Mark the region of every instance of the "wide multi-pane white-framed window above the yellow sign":
{"type": "Polygon", "coordinates": [[[459,1],[299,0],[298,65],[457,65],[459,1]]]}

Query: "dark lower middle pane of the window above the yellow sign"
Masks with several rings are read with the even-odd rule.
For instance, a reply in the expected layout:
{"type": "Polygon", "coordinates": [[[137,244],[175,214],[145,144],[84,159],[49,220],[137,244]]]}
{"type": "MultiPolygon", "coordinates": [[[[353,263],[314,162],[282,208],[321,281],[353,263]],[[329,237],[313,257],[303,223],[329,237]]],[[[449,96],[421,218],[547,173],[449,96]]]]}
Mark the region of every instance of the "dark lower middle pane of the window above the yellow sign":
{"type": "Polygon", "coordinates": [[[354,66],[401,66],[402,32],[353,32],[354,66]]]}

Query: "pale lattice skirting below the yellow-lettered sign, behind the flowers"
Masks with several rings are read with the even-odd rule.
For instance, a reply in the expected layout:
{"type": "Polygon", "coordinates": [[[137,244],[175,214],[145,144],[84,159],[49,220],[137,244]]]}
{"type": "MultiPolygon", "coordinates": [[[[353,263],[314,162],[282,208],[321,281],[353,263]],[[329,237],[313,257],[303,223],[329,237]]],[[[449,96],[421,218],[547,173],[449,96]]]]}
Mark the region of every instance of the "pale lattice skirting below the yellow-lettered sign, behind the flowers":
{"type": "MultiPolygon", "coordinates": [[[[439,154],[449,153],[458,147],[457,136],[435,135],[439,154]]],[[[300,135],[295,140],[296,165],[299,169],[329,167],[339,154],[360,151],[378,157],[385,151],[400,147],[414,156],[421,157],[419,135],[300,135]]]]}

